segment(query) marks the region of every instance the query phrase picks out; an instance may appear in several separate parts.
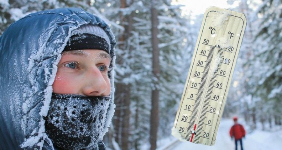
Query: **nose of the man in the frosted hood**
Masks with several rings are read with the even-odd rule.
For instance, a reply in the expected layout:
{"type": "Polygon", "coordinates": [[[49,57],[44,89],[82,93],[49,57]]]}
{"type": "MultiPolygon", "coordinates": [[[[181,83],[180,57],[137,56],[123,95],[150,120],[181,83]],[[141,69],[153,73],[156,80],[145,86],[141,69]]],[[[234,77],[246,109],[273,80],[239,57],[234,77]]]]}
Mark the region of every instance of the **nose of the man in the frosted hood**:
{"type": "Polygon", "coordinates": [[[102,75],[100,70],[95,66],[87,71],[85,75],[85,84],[82,88],[83,95],[86,96],[107,96],[109,95],[109,85],[107,78],[102,75]]]}

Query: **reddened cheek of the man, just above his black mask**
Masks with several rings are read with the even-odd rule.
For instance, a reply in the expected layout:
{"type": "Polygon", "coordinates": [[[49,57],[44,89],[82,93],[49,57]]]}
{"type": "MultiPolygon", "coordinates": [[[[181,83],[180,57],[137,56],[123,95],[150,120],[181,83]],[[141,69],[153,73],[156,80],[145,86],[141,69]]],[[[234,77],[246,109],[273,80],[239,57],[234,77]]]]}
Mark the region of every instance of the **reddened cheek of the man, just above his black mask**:
{"type": "Polygon", "coordinates": [[[73,80],[67,75],[56,75],[55,81],[52,85],[53,93],[56,94],[74,94],[75,89],[72,85],[73,80]]]}

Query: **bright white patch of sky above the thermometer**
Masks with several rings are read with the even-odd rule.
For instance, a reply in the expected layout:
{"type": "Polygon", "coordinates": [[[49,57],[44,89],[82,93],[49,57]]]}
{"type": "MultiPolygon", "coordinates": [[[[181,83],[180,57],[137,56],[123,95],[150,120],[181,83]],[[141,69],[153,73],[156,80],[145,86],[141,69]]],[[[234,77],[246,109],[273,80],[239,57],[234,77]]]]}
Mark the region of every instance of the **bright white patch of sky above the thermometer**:
{"type": "Polygon", "coordinates": [[[205,13],[206,8],[216,6],[221,8],[228,8],[227,0],[173,0],[172,4],[182,4],[185,14],[198,15],[205,13]]]}

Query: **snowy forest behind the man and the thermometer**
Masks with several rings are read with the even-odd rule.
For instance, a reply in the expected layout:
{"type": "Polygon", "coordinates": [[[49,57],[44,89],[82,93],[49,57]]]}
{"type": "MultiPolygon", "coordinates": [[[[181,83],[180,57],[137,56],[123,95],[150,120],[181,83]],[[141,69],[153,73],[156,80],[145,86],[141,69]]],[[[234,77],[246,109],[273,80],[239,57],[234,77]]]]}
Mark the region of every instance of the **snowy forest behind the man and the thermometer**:
{"type": "MultiPolygon", "coordinates": [[[[175,2],[1,0],[0,35],[12,22],[46,9],[80,7],[103,18],[117,41],[116,109],[104,141],[112,150],[155,150],[171,135],[203,18],[183,13],[175,2]]],[[[282,0],[227,3],[248,23],[223,118],[237,115],[251,130],[281,129],[282,0]]]]}

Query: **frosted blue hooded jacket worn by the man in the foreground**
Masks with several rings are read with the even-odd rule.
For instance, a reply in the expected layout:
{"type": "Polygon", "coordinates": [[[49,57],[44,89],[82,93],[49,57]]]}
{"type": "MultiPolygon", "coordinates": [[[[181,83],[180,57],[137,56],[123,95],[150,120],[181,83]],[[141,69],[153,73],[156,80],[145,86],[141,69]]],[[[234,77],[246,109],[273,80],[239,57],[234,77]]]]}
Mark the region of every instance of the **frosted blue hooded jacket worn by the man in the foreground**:
{"type": "MultiPolygon", "coordinates": [[[[80,8],[32,13],[0,36],[0,150],[54,149],[45,133],[43,116],[49,110],[56,65],[71,31],[86,24],[98,25],[107,33],[114,67],[116,42],[112,31],[102,19],[80,8]]],[[[109,78],[112,97],[103,135],[115,107],[113,71],[109,78]]]]}

